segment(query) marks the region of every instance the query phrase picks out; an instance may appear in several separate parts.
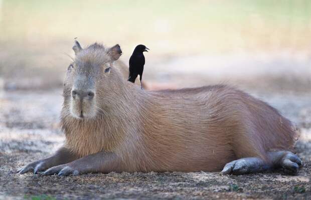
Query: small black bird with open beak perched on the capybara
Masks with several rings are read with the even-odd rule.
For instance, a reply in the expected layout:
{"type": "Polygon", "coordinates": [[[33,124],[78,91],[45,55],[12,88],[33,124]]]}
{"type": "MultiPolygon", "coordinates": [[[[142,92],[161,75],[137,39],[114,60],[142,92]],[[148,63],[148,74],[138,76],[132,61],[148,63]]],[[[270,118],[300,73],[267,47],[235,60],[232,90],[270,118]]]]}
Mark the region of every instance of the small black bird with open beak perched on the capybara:
{"type": "Polygon", "coordinates": [[[129,58],[129,75],[128,81],[135,83],[137,76],[139,75],[140,85],[142,89],[141,79],[144,66],[143,52],[148,52],[148,48],[144,45],[137,45],[133,51],[132,56],[129,58]]]}

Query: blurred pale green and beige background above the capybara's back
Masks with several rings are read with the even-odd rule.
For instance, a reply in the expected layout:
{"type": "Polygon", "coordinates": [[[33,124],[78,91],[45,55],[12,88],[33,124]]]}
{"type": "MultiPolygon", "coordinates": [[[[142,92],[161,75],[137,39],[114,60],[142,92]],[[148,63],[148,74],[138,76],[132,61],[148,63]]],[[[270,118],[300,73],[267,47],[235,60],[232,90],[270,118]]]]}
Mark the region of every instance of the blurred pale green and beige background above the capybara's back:
{"type": "Polygon", "coordinates": [[[0,85],[61,87],[75,37],[119,44],[126,65],[144,44],[151,84],[311,90],[308,0],[0,0],[0,85]]]}

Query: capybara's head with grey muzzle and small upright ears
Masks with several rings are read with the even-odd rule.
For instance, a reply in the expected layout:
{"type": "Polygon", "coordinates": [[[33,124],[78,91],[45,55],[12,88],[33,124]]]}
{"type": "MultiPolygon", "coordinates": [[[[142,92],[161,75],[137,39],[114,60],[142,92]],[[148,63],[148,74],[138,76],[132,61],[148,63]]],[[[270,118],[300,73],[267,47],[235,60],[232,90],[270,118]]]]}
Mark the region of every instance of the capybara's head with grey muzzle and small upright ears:
{"type": "Polygon", "coordinates": [[[105,101],[112,101],[120,76],[113,62],[122,54],[119,45],[104,48],[93,44],[82,49],[75,41],[75,59],[68,67],[64,83],[64,106],[69,115],[78,119],[95,117],[105,101]]]}

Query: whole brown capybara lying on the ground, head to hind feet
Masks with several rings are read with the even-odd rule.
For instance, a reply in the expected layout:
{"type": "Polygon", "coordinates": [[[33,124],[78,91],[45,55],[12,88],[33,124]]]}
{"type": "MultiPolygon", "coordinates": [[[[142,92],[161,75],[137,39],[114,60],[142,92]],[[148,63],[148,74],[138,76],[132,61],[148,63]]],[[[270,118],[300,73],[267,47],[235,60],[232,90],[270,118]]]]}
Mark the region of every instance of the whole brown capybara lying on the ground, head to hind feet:
{"type": "Polygon", "coordinates": [[[61,111],[65,144],[20,173],[294,173],[301,165],[289,151],[294,126],[263,101],[226,85],[140,90],[113,66],[119,45],[73,49],[61,111]]]}

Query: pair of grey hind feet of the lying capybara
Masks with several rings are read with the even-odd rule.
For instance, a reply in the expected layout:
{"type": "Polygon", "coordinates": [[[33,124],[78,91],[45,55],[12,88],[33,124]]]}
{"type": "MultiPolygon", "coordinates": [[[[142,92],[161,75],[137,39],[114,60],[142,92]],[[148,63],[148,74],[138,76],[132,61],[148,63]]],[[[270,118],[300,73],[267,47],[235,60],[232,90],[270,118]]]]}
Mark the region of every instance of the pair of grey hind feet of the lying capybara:
{"type": "Polygon", "coordinates": [[[301,160],[298,156],[289,151],[268,152],[268,159],[264,161],[258,157],[247,157],[233,160],[225,165],[221,174],[246,174],[272,170],[275,168],[283,168],[284,172],[292,174],[296,173],[301,160]]]}

